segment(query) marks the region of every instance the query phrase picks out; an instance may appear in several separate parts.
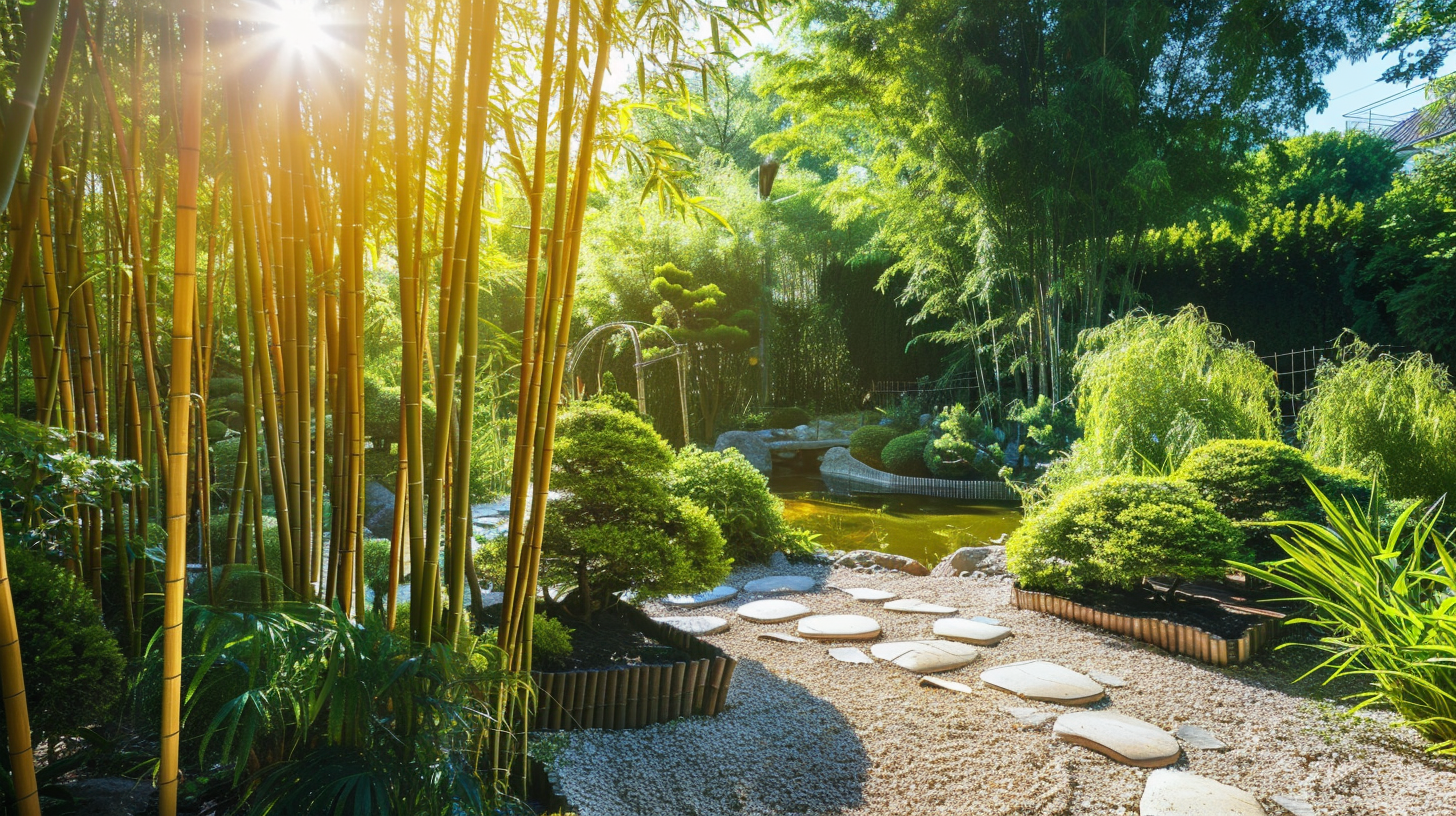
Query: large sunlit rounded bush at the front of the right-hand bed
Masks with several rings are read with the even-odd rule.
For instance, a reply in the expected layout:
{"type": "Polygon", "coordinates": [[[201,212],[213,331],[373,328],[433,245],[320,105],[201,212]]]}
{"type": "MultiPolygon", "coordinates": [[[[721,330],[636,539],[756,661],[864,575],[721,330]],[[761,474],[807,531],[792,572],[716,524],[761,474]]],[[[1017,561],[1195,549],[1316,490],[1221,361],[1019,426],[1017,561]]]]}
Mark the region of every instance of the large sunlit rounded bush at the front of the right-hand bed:
{"type": "Polygon", "coordinates": [[[1146,476],[1070,488],[1006,542],[1006,568],[1021,586],[1048,592],[1220,577],[1243,557],[1243,535],[1197,488],[1146,476]]]}

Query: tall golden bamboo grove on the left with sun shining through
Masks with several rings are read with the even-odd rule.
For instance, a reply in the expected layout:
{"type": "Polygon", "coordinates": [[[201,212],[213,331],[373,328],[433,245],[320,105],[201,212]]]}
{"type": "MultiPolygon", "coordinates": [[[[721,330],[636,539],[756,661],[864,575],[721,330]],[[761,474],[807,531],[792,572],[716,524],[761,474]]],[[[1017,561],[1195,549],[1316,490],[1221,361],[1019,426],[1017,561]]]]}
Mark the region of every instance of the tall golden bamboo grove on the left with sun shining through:
{"type": "MultiPolygon", "coordinates": [[[[35,0],[4,15],[0,360],[17,401],[28,372],[39,424],[143,476],[73,503],[57,546],[131,656],[162,650],[162,813],[176,812],[183,605],[214,600],[215,567],[275,574],[264,603],[367,612],[363,364],[381,268],[397,272],[403,340],[386,618],[424,648],[453,644],[466,590],[480,597],[467,488],[483,256],[524,267],[498,643],[530,670],[593,184],[630,173],[644,200],[699,205],[676,184],[681,154],[635,137],[632,111],[686,99],[724,39],[764,20],[763,0],[35,0]],[[242,380],[242,440],[215,484],[210,391],[224,376],[242,380]]],[[[0,552],[12,768],[38,813],[3,567],[0,552]]],[[[502,772],[524,715],[502,717],[502,772]]]]}

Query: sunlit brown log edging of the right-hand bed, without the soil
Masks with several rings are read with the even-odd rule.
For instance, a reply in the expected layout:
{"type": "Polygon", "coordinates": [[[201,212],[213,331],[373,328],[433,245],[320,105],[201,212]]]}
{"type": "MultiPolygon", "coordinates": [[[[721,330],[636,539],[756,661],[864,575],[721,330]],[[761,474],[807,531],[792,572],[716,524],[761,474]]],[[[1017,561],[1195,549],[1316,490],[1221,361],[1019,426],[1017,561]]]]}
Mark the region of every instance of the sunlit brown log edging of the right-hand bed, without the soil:
{"type": "Polygon", "coordinates": [[[1259,621],[1245,629],[1238,640],[1226,640],[1198,627],[1102,612],[1056,595],[1031,592],[1018,586],[1010,587],[1010,599],[1018,609],[1045,612],[1077,624],[1088,624],[1213,666],[1238,666],[1248,662],[1274,643],[1278,627],[1275,619],[1259,621]]]}

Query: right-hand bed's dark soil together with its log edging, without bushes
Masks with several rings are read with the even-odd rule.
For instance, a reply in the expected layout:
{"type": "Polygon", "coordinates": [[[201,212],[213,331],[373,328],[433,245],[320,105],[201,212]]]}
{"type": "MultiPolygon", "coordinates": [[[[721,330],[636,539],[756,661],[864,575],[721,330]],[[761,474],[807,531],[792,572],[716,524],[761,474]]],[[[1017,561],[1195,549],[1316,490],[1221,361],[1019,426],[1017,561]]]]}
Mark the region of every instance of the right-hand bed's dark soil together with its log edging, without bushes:
{"type": "Polygon", "coordinates": [[[1210,587],[1179,589],[1174,602],[1165,602],[1140,595],[1069,599],[1013,586],[1012,603],[1019,609],[1045,612],[1150,643],[1213,666],[1245,663],[1274,643],[1284,619],[1284,613],[1275,609],[1220,600],[1217,590],[1210,587]]]}

